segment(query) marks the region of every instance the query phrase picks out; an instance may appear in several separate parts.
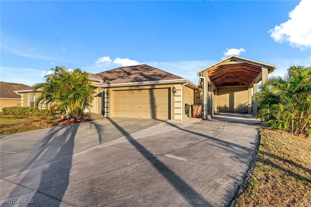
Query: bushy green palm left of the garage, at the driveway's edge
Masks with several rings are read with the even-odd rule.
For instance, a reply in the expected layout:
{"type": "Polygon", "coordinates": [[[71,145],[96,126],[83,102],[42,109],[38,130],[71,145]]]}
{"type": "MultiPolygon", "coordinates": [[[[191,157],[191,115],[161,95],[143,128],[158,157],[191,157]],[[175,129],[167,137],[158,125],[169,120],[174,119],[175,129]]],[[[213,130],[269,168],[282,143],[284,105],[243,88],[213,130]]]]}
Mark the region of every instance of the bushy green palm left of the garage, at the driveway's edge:
{"type": "Polygon", "coordinates": [[[84,109],[93,99],[95,87],[81,69],[56,67],[52,70],[52,74],[45,76],[46,82],[34,87],[34,91],[42,89],[35,106],[40,103],[50,105],[51,109],[57,106],[58,110],[65,110],[69,118],[81,119],[84,109]]]}

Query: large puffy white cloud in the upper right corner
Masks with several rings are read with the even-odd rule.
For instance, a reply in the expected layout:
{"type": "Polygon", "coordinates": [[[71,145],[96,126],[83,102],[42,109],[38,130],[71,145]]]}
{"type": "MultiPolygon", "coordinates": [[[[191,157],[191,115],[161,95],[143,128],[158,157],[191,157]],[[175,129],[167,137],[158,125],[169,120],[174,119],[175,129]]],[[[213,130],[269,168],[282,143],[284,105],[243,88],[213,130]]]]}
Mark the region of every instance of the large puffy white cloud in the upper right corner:
{"type": "Polygon", "coordinates": [[[301,0],[289,12],[289,20],[268,31],[276,42],[289,42],[291,46],[304,50],[311,47],[311,0],[301,0]],[[309,20],[308,20],[309,19],[309,20]]]}

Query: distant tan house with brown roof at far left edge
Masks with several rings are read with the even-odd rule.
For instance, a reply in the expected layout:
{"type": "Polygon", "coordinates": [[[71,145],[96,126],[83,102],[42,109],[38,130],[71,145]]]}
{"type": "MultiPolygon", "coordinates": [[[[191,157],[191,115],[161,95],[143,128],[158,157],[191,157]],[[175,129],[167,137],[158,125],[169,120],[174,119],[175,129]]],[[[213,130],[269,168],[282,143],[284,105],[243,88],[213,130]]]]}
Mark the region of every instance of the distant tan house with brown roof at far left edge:
{"type": "Polygon", "coordinates": [[[21,106],[20,94],[15,93],[15,90],[30,88],[30,86],[16,83],[0,82],[0,111],[2,108],[10,106],[21,106]]]}

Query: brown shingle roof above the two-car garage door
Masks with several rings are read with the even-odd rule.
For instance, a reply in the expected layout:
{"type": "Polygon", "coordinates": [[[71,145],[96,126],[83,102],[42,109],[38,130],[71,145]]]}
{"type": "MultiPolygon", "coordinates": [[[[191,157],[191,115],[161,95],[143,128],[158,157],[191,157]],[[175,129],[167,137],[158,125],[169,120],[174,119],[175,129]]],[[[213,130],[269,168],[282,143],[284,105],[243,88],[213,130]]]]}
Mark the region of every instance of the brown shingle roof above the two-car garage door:
{"type": "Polygon", "coordinates": [[[103,80],[105,84],[182,79],[180,76],[146,64],[121,67],[96,74],[88,74],[90,78],[103,80]]]}

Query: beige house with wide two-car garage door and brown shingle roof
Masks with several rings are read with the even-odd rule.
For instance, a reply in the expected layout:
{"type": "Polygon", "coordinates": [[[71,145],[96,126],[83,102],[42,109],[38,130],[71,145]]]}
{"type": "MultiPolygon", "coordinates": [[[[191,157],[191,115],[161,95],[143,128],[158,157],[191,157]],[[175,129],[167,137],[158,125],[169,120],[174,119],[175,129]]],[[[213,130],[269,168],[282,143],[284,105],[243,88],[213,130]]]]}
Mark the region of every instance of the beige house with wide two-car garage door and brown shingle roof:
{"type": "MultiPolygon", "coordinates": [[[[202,88],[148,65],[88,73],[88,77],[97,88],[86,112],[105,117],[185,120],[185,104],[202,104],[202,88]]],[[[39,95],[32,88],[16,92],[22,94],[22,106],[30,106],[39,95]]]]}

